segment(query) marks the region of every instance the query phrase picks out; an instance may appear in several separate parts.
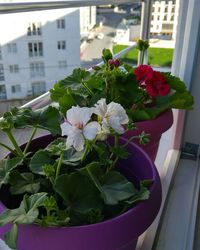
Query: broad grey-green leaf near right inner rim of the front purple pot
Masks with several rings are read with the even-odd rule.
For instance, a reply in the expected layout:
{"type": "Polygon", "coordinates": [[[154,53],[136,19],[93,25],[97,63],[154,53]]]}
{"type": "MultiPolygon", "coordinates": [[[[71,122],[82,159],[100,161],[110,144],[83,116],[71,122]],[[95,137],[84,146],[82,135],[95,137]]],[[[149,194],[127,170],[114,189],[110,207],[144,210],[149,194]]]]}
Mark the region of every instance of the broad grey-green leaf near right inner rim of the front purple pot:
{"type": "Polygon", "coordinates": [[[117,205],[119,202],[132,197],[137,191],[133,184],[117,171],[110,171],[102,186],[107,205],[117,205]]]}

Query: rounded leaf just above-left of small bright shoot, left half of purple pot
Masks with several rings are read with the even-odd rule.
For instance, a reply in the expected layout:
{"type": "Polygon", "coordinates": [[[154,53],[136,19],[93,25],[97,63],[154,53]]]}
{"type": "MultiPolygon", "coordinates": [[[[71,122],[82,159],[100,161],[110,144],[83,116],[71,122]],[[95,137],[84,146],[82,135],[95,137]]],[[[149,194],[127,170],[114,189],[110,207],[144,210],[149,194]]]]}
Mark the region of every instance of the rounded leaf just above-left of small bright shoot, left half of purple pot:
{"type": "Polygon", "coordinates": [[[33,155],[29,168],[35,174],[45,175],[43,167],[53,163],[54,160],[51,158],[50,153],[41,149],[33,155]]]}

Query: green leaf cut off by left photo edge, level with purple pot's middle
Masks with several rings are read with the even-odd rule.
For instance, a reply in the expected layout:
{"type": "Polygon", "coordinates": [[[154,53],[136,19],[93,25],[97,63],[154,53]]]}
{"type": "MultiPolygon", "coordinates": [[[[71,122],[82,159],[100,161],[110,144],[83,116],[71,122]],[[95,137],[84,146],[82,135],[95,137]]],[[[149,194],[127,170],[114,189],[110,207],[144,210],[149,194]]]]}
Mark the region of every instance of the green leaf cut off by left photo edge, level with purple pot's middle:
{"type": "Polygon", "coordinates": [[[21,157],[15,157],[12,159],[4,159],[0,161],[0,188],[2,184],[7,184],[10,172],[21,165],[23,159],[21,157]]]}

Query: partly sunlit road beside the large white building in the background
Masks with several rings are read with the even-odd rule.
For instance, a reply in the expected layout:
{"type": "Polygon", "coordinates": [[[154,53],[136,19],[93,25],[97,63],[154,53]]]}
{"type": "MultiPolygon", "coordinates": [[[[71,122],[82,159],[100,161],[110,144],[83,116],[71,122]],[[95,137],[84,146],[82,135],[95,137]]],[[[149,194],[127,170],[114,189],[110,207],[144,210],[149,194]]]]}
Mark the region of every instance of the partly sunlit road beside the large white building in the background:
{"type": "Polygon", "coordinates": [[[116,27],[121,22],[126,14],[123,13],[104,13],[105,23],[99,32],[104,33],[104,38],[94,39],[83,50],[81,58],[81,66],[83,68],[90,68],[102,61],[101,55],[104,48],[112,49],[112,39],[115,36],[116,27]]]}

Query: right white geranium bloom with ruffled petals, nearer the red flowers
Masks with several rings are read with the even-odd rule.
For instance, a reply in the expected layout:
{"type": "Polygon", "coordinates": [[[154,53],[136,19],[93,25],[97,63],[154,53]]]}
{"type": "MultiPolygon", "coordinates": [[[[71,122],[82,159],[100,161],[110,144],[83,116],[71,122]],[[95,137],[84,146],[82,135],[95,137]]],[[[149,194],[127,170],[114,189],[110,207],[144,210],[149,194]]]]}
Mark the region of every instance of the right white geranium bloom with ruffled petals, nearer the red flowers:
{"type": "Polygon", "coordinates": [[[107,105],[106,100],[101,99],[95,105],[93,112],[101,117],[102,130],[104,133],[108,134],[110,128],[114,129],[119,134],[125,132],[122,125],[128,123],[128,116],[119,103],[111,102],[107,105]]]}

